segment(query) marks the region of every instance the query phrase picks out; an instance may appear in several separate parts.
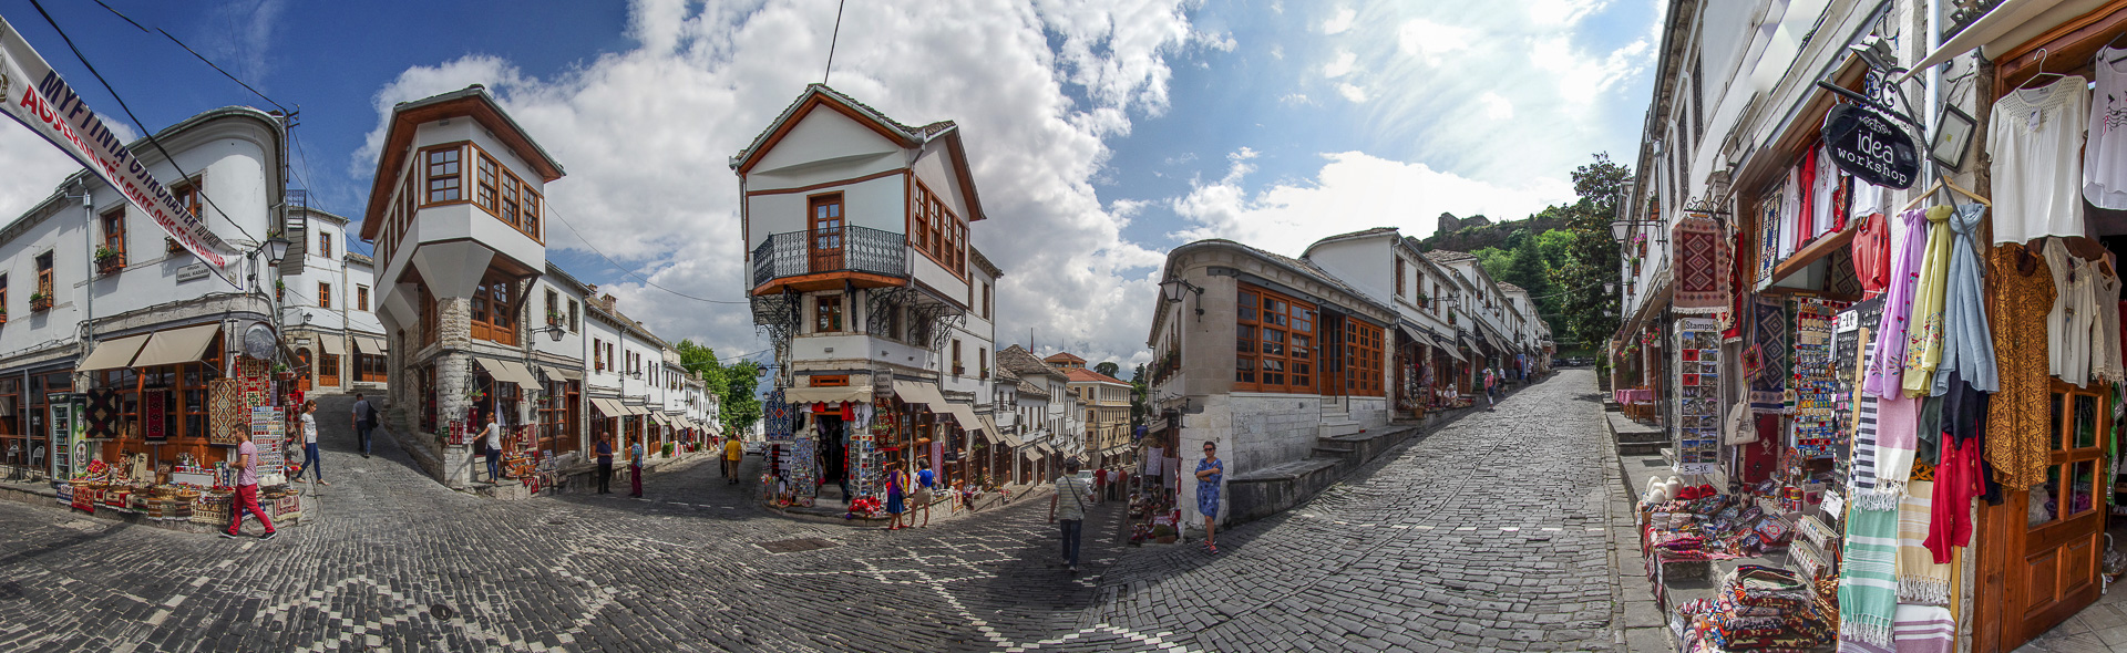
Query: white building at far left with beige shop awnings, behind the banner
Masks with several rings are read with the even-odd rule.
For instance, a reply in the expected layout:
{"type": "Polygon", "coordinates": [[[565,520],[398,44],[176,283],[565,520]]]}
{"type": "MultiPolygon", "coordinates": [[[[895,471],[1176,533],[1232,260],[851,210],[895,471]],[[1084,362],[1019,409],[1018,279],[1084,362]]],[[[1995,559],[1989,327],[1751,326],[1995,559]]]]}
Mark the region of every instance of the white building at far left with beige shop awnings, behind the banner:
{"type": "Polygon", "coordinates": [[[247,332],[266,342],[277,334],[262,245],[285,217],[285,136],[279,115],[228,106],[157,132],[160,147],[130,145],[215,236],[247,253],[234,266],[245,291],[85,170],[13,208],[19,215],[0,228],[0,464],[51,476],[119,451],[223,459],[230,449],[211,445],[234,442],[240,425],[217,421],[206,394],[234,383],[223,379],[268,374],[270,357],[247,357],[242,345],[247,332]],[[89,404],[108,417],[83,419],[87,440],[74,442],[74,417],[89,404]]]}

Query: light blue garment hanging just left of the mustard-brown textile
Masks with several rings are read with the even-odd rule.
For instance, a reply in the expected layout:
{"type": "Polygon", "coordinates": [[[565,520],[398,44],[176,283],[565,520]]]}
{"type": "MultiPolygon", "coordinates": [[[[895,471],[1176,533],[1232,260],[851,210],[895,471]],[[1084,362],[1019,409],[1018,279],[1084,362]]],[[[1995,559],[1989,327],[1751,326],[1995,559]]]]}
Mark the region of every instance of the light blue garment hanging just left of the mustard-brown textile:
{"type": "Polygon", "coordinates": [[[1931,396],[1950,391],[1961,376],[1978,391],[1999,391],[1993,334],[1987,330],[1987,291],[1974,238],[1987,204],[1963,204],[1950,215],[1950,272],[1942,296],[1942,364],[1936,366],[1931,396]]]}

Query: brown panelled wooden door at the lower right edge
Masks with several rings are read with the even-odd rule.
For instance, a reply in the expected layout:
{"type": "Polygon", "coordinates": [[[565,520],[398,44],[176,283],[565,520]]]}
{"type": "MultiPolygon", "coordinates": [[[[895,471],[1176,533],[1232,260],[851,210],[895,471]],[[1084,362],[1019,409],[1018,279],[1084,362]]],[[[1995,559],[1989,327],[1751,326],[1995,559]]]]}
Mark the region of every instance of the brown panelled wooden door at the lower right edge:
{"type": "Polygon", "coordinates": [[[2104,391],[2053,381],[2046,481],[2006,491],[2004,627],[1995,651],[2010,651],[2067,621],[2097,600],[2104,551],[2106,432],[2104,391]]]}

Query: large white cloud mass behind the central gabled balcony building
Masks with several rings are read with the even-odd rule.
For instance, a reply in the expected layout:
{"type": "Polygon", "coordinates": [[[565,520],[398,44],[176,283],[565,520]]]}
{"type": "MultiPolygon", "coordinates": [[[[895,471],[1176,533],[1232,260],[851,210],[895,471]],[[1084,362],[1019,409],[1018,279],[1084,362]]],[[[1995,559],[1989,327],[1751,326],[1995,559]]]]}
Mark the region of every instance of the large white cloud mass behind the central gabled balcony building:
{"type": "MultiPolygon", "coordinates": [[[[966,134],[991,215],[970,232],[1004,268],[1000,340],[1019,342],[1038,328],[1044,347],[1087,359],[1142,349],[1142,300],[1163,257],[1121,238],[1142,206],[1104,206],[1095,179],[1110,155],[1106,136],[1127,134],[1134,115],[1166,111],[1168,55],[1193,34],[1183,4],[847,6],[844,28],[866,30],[842,30],[832,85],[904,123],[953,119],[966,134]]],[[[834,6],[642,0],[630,21],[636,49],[555,79],[487,55],[417,66],[379,89],[379,123],[391,102],[487,83],[568,170],[547,187],[553,219],[657,285],[738,300],[747,285],[738,179],[725,157],[819,81],[815,62],[825,60],[834,6]]],[[[351,162],[364,179],[379,136],[351,162]]],[[[566,228],[551,230],[549,245],[585,247],[566,228]]],[[[696,338],[719,353],[761,349],[747,306],[681,300],[634,279],[602,289],[670,340],[696,338]]]]}

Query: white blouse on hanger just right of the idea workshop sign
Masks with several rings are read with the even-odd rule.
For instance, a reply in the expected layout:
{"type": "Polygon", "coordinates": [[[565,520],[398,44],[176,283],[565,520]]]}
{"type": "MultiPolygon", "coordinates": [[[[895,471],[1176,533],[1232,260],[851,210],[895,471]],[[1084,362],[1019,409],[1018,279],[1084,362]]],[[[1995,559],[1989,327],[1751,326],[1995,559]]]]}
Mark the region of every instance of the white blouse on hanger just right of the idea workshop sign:
{"type": "Polygon", "coordinates": [[[1987,121],[1993,149],[1995,242],[2082,236],[2082,130],[2089,81],[2063,77],[2002,96],[1987,121]]]}

